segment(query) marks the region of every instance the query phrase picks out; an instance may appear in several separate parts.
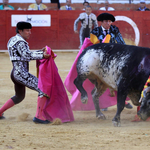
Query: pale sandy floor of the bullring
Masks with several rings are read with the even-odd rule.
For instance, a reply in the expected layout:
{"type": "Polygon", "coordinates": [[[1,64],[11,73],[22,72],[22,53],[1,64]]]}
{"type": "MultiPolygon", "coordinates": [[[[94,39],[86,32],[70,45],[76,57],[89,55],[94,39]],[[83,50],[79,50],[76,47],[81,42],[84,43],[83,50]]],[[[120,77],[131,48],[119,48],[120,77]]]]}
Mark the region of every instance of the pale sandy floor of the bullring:
{"type": "MultiPolygon", "coordinates": [[[[77,53],[57,53],[55,62],[65,80],[77,53]]],[[[0,53],[0,107],[14,95],[10,79],[12,69],[8,53],[0,53]]],[[[30,73],[36,75],[35,61],[30,73]]],[[[71,95],[68,93],[69,99],[71,95]]],[[[61,125],[34,124],[37,92],[27,89],[26,98],[5,112],[0,120],[0,149],[14,150],[149,150],[150,122],[131,122],[136,107],[124,109],[121,127],[113,127],[111,120],[116,106],[104,112],[106,120],[98,120],[95,111],[73,112],[75,121],[61,125]]]]}

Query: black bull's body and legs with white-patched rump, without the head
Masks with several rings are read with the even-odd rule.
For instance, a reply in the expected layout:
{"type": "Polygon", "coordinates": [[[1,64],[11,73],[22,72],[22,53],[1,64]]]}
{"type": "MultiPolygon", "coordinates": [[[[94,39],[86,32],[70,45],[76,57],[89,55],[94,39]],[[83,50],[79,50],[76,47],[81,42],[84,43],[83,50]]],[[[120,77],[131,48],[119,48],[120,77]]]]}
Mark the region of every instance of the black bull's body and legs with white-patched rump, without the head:
{"type": "Polygon", "coordinates": [[[105,119],[99,108],[99,97],[107,88],[117,91],[117,113],[114,126],[120,126],[120,114],[126,97],[139,106],[141,91],[150,75],[150,49],[131,45],[101,43],[83,50],[77,62],[78,76],[74,84],[81,92],[81,101],[88,100],[82,84],[88,78],[95,88],[91,91],[96,117],[105,119]]]}

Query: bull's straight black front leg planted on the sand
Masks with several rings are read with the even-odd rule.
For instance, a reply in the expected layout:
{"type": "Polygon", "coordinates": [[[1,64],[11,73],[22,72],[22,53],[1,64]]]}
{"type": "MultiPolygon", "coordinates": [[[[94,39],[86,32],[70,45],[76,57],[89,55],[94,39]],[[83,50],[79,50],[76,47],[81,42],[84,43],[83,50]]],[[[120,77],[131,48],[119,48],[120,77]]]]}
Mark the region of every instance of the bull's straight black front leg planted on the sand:
{"type": "Polygon", "coordinates": [[[126,97],[127,97],[127,90],[124,89],[122,86],[118,87],[118,92],[117,92],[117,113],[116,113],[115,117],[112,120],[113,125],[115,127],[121,126],[120,114],[121,114],[122,110],[124,109],[125,100],[126,100],[126,97]]]}

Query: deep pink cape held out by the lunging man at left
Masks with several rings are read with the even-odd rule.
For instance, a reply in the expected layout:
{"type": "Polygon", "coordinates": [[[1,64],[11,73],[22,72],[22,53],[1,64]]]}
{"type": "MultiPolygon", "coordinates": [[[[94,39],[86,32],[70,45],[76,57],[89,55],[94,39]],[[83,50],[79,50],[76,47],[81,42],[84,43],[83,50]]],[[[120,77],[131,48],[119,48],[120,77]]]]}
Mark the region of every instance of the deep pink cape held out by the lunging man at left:
{"type": "Polygon", "coordinates": [[[53,59],[57,55],[49,47],[46,48],[48,54],[51,55],[50,58],[37,61],[37,66],[39,66],[38,87],[50,96],[45,104],[43,115],[50,121],[55,118],[61,119],[62,122],[74,121],[69,98],[53,59]]]}

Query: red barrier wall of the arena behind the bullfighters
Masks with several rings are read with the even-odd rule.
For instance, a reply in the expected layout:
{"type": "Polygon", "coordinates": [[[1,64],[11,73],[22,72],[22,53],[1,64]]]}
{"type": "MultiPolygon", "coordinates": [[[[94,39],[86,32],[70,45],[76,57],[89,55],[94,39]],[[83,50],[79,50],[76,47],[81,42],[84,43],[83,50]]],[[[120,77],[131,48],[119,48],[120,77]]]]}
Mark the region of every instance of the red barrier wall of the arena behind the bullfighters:
{"type": "MultiPolygon", "coordinates": [[[[14,36],[15,27],[11,27],[12,14],[50,14],[50,27],[33,27],[32,34],[28,40],[30,49],[40,49],[45,45],[52,49],[77,49],[79,46],[79,36],[73,31],[75,19],[82,11],[0,11],[0,50],[7,49],[7,42],[10,37],[14,36]]],[[[93,11],[97,16],[102,11],[93,11]]],[[[150,12],[138,11],[113,11],[114,16],[124,16],[131,19],[140,31],[139,46],[150,47],[150,12]]],[[[116,21],[113,24],[118,26],[120,32],[127,44],[135,45],[134,28],[125,21],[116,21]]],[[[100,25],[100,24],[99,24],[100,25]]]]}

